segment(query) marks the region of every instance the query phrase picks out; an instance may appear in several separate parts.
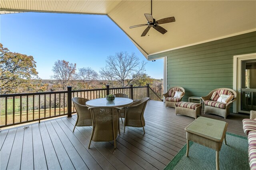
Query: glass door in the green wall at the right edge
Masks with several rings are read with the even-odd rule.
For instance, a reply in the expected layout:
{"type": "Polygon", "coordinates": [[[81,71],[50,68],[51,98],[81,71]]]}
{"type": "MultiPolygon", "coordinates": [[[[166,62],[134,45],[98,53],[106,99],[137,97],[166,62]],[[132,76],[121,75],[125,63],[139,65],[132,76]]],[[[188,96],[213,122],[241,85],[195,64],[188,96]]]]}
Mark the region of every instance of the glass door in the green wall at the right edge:
{"type": "Polygon", "coordinates": [[[240,112],[256,110],[256,60],[242,61],[240,112]]]}

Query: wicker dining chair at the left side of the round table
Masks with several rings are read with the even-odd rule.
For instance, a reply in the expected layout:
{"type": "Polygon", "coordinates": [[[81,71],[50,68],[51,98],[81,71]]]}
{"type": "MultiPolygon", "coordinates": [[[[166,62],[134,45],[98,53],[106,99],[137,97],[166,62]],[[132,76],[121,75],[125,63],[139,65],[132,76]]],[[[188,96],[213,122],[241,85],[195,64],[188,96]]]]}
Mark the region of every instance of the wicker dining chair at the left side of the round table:
{"type": "Polygon", "coordinates": [[[76,124],[74,126],[73,132],[76,126],[92,126],[92,116],[88,107],[85,106],[85,103],[88,99],[85,98],[72,98],[72,102],[74,103],[77,119],[76,124]]]}

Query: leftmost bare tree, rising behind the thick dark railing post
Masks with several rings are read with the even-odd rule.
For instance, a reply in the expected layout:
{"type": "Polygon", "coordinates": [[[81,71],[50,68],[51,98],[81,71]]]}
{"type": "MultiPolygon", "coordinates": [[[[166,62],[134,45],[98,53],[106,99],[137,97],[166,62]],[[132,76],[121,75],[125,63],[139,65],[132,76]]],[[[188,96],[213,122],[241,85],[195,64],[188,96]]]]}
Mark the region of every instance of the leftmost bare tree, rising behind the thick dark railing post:
{"type": "Polygon", "coordinates": [[[54,63],[52,67],[54,73],[51,78],[60,80],[60,84],[64,91],[67,90],[67,86],[70,80],[74,77],[76,72],[76,64],[69,63],[65,60],[58,60],[54,63]]]}

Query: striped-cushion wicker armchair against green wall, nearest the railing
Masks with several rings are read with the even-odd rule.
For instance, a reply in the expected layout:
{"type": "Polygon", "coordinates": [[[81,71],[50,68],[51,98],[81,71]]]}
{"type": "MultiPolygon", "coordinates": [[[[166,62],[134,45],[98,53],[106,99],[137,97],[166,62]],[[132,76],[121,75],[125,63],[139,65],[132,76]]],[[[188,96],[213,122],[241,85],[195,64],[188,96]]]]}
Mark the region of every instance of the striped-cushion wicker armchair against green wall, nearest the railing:
{"type": "Polygon", "coordinates": [[[174,86],[170,88],[165,94],[165,107],[175,107],[175,104],[181,102],[182,97],[185,95],[185,90],[182,87],[174,86]],[[174,98],[175,92],[183,92],[180,98],[174,98]]]}

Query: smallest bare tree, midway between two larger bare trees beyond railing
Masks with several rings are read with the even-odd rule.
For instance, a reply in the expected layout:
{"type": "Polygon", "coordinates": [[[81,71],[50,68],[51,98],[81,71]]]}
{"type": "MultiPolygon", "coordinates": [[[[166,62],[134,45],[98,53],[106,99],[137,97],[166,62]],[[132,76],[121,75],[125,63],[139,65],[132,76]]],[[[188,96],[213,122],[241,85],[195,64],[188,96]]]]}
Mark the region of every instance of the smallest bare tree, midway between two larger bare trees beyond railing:
{"type": "Polygon", "coordinates": [[[77,78],[83,83],[85,89],[89,89],[94,80],[97,80],[98,73],[90,67],[78,68],[77,78]]]}

